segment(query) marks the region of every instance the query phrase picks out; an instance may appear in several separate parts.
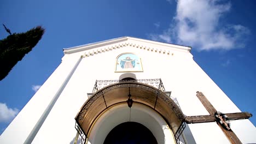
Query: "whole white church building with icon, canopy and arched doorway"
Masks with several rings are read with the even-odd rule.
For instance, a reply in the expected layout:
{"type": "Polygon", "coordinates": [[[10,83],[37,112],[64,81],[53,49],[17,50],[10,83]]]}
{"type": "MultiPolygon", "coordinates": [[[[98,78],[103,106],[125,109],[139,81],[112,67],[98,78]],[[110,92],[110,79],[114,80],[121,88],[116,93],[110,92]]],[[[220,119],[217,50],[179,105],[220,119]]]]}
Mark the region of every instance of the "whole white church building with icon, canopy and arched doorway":
{"type": "Polygon", "coordinates": [[[64,49],[0,143],[256,143],[252,115],[190,51],[132,37],[64,49]]]}

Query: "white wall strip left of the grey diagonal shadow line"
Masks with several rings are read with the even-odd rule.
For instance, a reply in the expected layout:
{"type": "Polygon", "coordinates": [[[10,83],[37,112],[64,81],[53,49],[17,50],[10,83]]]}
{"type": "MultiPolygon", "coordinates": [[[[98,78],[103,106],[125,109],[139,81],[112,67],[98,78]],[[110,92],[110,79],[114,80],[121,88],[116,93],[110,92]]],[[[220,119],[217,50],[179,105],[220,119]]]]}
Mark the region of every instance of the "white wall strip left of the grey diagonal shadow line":
{"type": "Polygon", "coordinates": [[[0,136],[0,143],[24,143],[59,91],[75,62],[61,63],[0,136]],[[65,69],[65,71],[63,71],[65,69]],[[15,138],[14,138],[15,136],[15,138]]]}

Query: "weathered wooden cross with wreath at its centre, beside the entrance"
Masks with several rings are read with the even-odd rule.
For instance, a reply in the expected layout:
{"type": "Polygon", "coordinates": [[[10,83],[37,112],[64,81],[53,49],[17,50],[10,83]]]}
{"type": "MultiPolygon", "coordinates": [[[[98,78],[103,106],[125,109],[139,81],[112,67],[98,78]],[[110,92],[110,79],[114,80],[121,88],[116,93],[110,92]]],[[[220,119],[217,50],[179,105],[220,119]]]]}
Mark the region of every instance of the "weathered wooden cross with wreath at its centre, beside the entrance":
{"type": "MultiPolygon", "coordinates": [[[[223,124],[220,123],[219,119],[215,117],[217,110],[212,106],[210,101],[203,95],[202,92],[196,92],[197,98],[201,101],[205,109],[210,113],[210,115],[203,115],[203,116],[187,116],[185,118],[186,123],[207,123],[207,122],[217,122],[220,129],[222,129],[225,136],[228,138],[230,143],[242,143],[236,134],[231,130],[223,127],[223,124]]],[[[248,119],[252,117],[251,113],[248,112],[236,112],[236,113],[224,113],[224,115],[228,116],[229,120],[236,120],[236,119],[248,119]]],[[[225,122],[224,122],[225,123],[225,122]]]]}

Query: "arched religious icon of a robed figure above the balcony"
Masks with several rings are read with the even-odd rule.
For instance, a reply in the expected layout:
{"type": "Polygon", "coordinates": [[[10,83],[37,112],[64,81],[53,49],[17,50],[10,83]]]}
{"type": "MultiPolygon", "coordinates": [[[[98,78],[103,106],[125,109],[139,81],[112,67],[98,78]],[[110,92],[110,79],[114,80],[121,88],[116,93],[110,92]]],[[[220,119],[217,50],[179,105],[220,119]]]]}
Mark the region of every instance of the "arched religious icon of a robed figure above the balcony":
{"type": "Polygon", "coordinates": [[[118,56],[115,72],[143,71],[141,58],[133,53],[123,53],[118,56]]]}

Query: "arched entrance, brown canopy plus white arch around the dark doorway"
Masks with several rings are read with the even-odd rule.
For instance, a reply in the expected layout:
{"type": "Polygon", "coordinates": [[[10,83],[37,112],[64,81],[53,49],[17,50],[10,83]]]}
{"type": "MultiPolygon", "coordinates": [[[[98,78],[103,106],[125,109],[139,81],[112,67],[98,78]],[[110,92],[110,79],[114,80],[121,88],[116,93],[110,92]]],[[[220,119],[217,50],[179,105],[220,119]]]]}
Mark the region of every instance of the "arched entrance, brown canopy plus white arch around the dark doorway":
{"type": "Polygon", "coordinates": [[[88,143],[103,143],[109,132],[124,122],[145,125],[158,143],[175,143],[173,135],[184,122],[184,115],[161,90],[131,81],[98,90],[85,102],[75,120],[77,130],[88,143]],[[133,99],[131,112],[126,103],[128,95],[133,99]]]}

